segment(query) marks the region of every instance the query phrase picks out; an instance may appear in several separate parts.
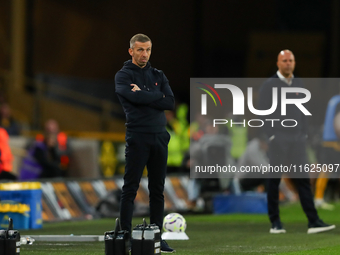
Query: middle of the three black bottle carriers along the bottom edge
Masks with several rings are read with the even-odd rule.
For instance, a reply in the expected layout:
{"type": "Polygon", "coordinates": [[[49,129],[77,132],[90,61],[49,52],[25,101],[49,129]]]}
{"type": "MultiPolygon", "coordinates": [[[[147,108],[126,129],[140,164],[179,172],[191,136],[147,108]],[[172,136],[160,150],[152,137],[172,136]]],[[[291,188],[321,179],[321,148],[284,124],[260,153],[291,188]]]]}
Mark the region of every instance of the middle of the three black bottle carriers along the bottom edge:
{"type": "Polygon", "coordinates": [[[114,231],[104,233],[105,255],[128,255],[130,235],[126,230],[121,230],[119,219],[116,219],[114,231]]]}

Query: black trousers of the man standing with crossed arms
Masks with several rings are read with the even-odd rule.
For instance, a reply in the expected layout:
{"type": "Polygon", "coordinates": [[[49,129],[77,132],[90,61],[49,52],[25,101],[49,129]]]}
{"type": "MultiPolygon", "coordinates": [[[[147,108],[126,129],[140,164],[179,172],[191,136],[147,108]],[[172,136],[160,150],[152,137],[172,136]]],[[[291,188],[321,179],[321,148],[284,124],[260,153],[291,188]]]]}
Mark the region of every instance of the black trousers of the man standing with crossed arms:
{"type": "Polygon", "coordinates": [[[164,217],[164,183],[168,160],[170,134],[126,132],[125,175],[120,204],[123,230],[131,233],[134,200],[144,167],[148,170],[150,223],[161,230],[164,217]]]}

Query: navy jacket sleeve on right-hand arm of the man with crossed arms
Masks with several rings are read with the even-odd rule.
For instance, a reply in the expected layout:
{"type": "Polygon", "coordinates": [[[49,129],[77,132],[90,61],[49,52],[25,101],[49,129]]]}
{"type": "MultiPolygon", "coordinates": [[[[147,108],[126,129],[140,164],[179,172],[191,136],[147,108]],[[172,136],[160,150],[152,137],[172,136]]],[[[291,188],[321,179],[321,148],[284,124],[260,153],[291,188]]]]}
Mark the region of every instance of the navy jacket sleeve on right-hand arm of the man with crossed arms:
{"type": "Polygon", "coordinates": [[[164,73],[162,73],[162,88],[161,91],[164,95],[161,99],[158,99],[151,104],[149,104],[150,107],[157,109],[157,110],[173,110],[175,108],[175,97],[174,93],[172,92],[169,80],[166,78],[164,73]]]}

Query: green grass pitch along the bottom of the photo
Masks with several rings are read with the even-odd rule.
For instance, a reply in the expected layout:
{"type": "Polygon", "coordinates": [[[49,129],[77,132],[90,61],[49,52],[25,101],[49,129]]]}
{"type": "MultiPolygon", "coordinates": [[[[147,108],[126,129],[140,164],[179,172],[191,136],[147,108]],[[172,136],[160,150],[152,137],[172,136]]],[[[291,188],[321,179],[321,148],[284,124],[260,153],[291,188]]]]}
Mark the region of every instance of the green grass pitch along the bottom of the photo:
{"type": "MultiPolygon", "coordinates": [[[[185,216],[188,241],[169,241],[183,255],[219,254],[340,254],[340,204],[334,211],[319,210],[320,217],[335,230],[307,234],[307,219],[299,204],[281,206],[281,220],[286,234],[269,234],[267,215],[196,215],[185,216]]],[[[134,219],[133,225],[141,223],[134,219]]],[[[41,230],[21,231],[22,235],[101,235],[111,230],[114,219],[44,224],[41,230]]],[[[104,255],[103,242],[47,243],[23,245],[21,255],[104,255]]]]}

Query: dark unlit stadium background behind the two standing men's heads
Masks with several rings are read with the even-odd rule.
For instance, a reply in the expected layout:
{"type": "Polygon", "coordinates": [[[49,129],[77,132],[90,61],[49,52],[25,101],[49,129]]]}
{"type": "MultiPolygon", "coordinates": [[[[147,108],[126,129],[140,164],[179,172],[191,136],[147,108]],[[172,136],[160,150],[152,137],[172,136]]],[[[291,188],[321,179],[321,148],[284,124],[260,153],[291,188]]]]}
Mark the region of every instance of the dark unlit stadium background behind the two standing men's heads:
{"type": "MultiPolygon", "coordinates": [[[[10,7],[0,1],[0,38],[10,37],[10,7]]],[[[26,75],[113,81],[130,59],[130,38],[144,33],[153,42],[150,62],[177,101],[189,103],[190,77],[271,76],[286,48],[296,75],[338,77],[337,7],[337,0],[27,0],[26,75]]],[[[1,69],[10,64],[7,43],[1,69]]]]}

